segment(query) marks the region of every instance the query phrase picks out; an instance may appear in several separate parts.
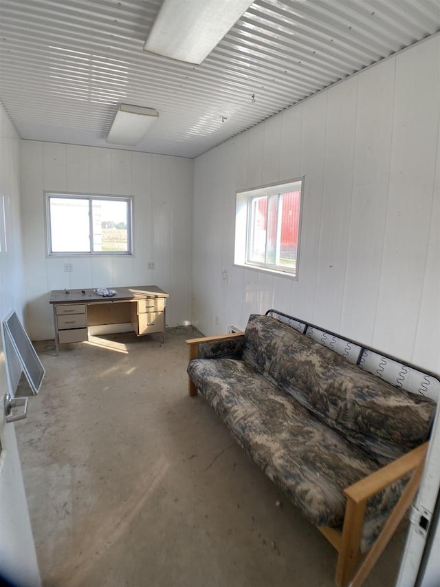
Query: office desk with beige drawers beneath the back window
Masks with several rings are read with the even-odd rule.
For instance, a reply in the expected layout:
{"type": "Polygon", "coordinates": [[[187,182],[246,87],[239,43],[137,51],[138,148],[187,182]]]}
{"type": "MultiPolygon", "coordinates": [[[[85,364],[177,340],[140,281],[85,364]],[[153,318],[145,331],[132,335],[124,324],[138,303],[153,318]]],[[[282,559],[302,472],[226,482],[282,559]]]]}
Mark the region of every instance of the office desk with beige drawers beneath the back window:
{"type": "Polygon", "coordinates": [[[63,343],[87,341],[89,326],[131,323],[138,337],[165,336],[165,299],[157,286],[114,288],[118,293],[102,297],[94,290],[52,290],[55,348],[63,343]]]}

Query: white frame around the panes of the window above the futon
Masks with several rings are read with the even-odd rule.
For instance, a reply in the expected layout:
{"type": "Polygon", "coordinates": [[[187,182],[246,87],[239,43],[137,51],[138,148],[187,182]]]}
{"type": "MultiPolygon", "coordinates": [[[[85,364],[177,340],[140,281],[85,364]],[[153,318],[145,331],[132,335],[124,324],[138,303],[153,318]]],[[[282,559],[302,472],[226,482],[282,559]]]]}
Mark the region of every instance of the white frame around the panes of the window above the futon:
{"type": "MultiPolygon", "coordinates": [[[[305,177],[288,180],[276,184],[268,184],[265,186],[258,186],[252,189],[236,191],[236,212],[235,212],[235,246],[234,246],[234,266],[245,267],[247,269],[254,269],[266,273],[273,273],[275,275],[283,275],[298,280],[299,264],[300,264],[300,237],[301,224],[303,217],[303,195],[304,195],[305,177]],[[281,202],[283,193],[289,191],[300,192],[299,215],[298,215],[298,239],[296,245],[296,267],[288,268],[274,263],[267,263],[267,239],[269,238],[269,231],[266,231],[265,237],[265,262],[258,262],[251,259],[252,249],[252,204],[258,198],[267,198],[267,209],[270,205],[270,196],[277,196],[278,212],[277,212],[277,228],[276,240],[277,249],[281,243],[281,222],[282,213],[279,211],[279,202],[281,202]],[[244,218],[245,217],[245,218],[244,218]]],[[[267,222],[267,217],[266,217],[267,222]]]]}

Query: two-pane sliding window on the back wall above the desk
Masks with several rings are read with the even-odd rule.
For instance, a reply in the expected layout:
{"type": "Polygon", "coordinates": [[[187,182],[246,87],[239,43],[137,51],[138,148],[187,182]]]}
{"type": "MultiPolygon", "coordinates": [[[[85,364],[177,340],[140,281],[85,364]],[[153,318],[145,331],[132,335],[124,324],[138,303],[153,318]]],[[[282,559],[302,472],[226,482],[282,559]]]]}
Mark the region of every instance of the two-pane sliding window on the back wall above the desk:
{"type": "Polygon", "coordinates": [[[131,255],[131,198],[48,193],[49,255],[131,255]]]}

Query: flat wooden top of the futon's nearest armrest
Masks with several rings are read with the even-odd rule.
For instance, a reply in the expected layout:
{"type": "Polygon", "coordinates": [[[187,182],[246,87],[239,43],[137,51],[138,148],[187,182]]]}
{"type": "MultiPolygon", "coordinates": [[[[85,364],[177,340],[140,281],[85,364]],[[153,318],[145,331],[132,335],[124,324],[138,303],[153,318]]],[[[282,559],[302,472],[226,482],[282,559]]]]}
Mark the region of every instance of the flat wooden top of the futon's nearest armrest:
{"type": "Polygon", "coordinates": [[[368,477],[353,483],[353,485],[344,489],[344,494],[356,503],[366,502],[391,483],[398,481],[416,469],[425,458],[428,444],[429,442],[425,442],[423,445],[394,460],[389,465],[371,473],[368,477]]]}

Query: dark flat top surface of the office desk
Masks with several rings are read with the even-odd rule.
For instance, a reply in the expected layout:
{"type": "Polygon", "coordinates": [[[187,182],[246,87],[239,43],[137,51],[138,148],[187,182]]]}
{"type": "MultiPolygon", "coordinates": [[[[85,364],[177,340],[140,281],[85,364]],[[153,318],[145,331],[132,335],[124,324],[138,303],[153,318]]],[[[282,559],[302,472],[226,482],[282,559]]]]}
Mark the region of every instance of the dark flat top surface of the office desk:
{"type": "Polygon", "coordinates": [[[157,286],[131,286],[129,288],[109,288],[118,293],[111,297],[98,295],[93,289],[84,290],[52,290],[50,303],[92,303],[104,301],[131,301],[146,297],[169,297],[169,294],[157,286]]]}

